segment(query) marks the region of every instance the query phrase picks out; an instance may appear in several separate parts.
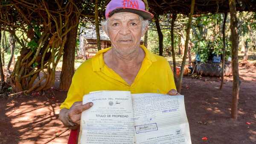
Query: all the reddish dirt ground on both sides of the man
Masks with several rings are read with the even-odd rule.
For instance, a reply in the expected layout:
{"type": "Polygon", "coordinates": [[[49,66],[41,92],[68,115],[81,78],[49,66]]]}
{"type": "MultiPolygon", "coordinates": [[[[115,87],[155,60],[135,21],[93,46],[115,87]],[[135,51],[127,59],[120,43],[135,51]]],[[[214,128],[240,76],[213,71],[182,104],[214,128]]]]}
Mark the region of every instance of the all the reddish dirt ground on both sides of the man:
{"type": "MultiPolygon", "coordinates": [[[[230,118],[232,77],[183,78],[186,114],[192,144],[256,144],[256,66],[239,66],[241,79],[239,117],[230,118]],[[207,140],[202,140],[207,137],[207,140]]],[[[59,75],[60,72],[57,73],[59,75]]],[[[56,78],[58,87],[58,77],[56,78]]],[[[59,106],[67,92],[50,89],[15,95],[0,101],[0,144],[44,144],[66,128],[58,120],[59,106]]],[[[49,144],[66,144],[69,130],[49,144]]]]}

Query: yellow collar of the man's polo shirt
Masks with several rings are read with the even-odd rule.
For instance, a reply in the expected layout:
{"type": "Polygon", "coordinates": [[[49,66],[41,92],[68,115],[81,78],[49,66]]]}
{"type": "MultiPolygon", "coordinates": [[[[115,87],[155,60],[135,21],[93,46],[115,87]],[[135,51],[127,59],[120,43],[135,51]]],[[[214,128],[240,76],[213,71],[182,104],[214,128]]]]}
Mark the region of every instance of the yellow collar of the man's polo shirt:
{"type": "MultiPolygon", "coordinates": [[[[152,52],[148,51],[148,49],[144,45],[140,45],[140,47],[145,52],[144,60],[146,59],[146,60],[149,60],[150,62],[157,61],[154,54],[152,52]]],[[[107,52],[110,49],[111,49],[111,47],[109,47],[107,49],[102,49],[92,58],[93,71],[100,71],[102,69],[102,67],[105,64],[104,59],[103,59],[103,53],[107,52]]]]}

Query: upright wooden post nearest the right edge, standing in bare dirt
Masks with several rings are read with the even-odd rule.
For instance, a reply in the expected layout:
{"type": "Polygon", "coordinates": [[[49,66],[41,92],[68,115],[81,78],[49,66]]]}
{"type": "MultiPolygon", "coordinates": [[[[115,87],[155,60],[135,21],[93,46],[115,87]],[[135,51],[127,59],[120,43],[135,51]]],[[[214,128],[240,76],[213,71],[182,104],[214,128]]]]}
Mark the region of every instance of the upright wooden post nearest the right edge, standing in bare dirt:
{"type": "Polygon", "coordinates": [[[232,107],[231,117],[237,119],[238,116],[238,99],[239,99],[239,71],[238,71],[238,45],[239,35],[236,18],[236,0],[229,0],[230,7],[230,29],[232,38],[232,72],[233,72],[233,88],[232,88],[232,107]]]}

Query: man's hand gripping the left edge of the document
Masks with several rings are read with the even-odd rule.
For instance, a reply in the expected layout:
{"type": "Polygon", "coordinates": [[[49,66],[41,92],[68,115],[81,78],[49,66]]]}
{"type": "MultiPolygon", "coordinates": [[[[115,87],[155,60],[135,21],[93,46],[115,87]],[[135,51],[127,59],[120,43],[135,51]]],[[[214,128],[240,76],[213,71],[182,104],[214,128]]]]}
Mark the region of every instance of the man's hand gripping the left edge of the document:
{"type": "Polygon", "coordinates": [[[81,113],[92,106],[93,103],[91,102],[86,104],[83,104],[82,101],[75,102],[70,109],[61,109],[59,118],[66,127],[70,127],[73,130],[78,129],[81,113]]]}

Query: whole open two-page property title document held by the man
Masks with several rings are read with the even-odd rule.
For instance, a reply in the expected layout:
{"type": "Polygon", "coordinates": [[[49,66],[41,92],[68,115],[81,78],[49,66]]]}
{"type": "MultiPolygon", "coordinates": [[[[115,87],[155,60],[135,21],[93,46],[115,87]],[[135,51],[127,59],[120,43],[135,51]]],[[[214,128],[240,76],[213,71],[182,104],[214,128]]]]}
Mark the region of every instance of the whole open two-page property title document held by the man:
{"type": "Polygon", "coordinates": [[[183,95],[102,91],[84,95],[80,144],[191,144],[183,95]]]}

